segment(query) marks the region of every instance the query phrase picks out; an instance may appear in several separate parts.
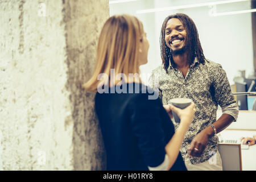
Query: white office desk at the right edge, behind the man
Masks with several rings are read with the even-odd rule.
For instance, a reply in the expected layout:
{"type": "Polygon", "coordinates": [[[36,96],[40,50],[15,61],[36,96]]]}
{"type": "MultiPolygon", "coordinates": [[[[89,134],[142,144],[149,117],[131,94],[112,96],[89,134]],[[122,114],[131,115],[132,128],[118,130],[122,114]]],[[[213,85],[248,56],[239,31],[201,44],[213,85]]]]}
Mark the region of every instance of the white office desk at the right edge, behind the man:
{"type": "MultiPolygon", "coordinates": [[[[242,137],[253,137],[256,131],[248,130],[224,130],[220,132],[222,138],[225,139],[240,139],[242,137]]],[[[242,151],[242,170],[256,171],[256,144],[250,146],[247,150],[242,151]]]]}

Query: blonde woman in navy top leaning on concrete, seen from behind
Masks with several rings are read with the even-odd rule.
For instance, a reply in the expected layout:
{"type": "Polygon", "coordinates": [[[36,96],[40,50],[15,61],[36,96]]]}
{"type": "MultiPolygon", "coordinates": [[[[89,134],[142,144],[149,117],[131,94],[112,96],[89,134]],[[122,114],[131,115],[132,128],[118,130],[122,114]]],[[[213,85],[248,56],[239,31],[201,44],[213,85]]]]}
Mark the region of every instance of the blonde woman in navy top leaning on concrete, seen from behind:
{"type": "Polygon", "coordinates": [[[195,113],[150,99],[154,90],[139,77],[147,63],[148,40],[142,23],[131,15],[114,15],[102,28],[96,67],[84,84],[96,92],[95,107],[104,139],[107,170],[186,170],[179,152],[195,113]],[[180,117],[176,133],[170,117],[180,117]]]}

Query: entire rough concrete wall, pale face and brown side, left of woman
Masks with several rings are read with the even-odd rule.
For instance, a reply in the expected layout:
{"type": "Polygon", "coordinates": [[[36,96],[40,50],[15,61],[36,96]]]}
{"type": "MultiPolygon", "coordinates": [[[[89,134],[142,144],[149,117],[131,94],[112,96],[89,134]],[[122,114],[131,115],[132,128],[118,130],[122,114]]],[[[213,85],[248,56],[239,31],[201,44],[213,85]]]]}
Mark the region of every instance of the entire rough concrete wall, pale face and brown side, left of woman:
{"type": "Polygon", "coordinates": [[[108,16],[107,0],[0,1],[0,169],[104,169],[81,84],[108,16]]]}

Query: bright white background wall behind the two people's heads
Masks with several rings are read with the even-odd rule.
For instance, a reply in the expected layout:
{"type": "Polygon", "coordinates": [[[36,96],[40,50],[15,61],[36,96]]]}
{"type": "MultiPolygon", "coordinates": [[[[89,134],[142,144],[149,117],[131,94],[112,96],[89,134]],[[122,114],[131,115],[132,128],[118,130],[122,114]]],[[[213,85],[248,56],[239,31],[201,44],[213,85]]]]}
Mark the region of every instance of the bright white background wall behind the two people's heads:
{"type": "MultiPolygon", "coordinates": [[[[209,16],[209,7],[195,7],[158,13],[136,14],[137,10],[168,6],[189,5],[194,3],[213,2],[214,0],[138,0],[110,4],[110,16],[129,13],[142,20],[147,32],[150,49],[148,63],[141,66],[142,73],[150,73],[162,63],[160,57],[159,37],[164,18],[170,14],[184,13],[189,15],[197,26],[199,38],[205,57],[220,63],[225,69],[230,84],[238,69],[245,69],[246,75],[253,71],[253,42],[251,32],[251,14],[226,16],[209,16]]],[[[111,1],[110,1],[111,2],[111,1]]],[[[217,13],[251,9],[250,1],[217,5],[217,13]]]]}

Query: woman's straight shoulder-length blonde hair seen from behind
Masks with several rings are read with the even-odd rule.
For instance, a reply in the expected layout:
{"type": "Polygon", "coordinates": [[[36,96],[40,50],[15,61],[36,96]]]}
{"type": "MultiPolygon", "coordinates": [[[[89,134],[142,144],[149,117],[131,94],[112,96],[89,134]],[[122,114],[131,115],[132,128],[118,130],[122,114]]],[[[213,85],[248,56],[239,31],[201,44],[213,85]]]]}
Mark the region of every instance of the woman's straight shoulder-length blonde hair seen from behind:
{"type": "MultiPolygon", "coordinates": [[[[139,73],[139,42],[142,41],[143,32],[142,23],[135,16],[111,16],[105,22],[98,39],[93,76],[83,87],[90,92],[97,92],[101,82],[98,75],[105,73],[109,76],[108,81],[113,81],[110,80],[110,69],[114,69],[115,75],[122,73],[127,77],[129,73],[139,73]]],[[[114,83],[117,84],[117,81],[114,80],[114,83]]]]}

